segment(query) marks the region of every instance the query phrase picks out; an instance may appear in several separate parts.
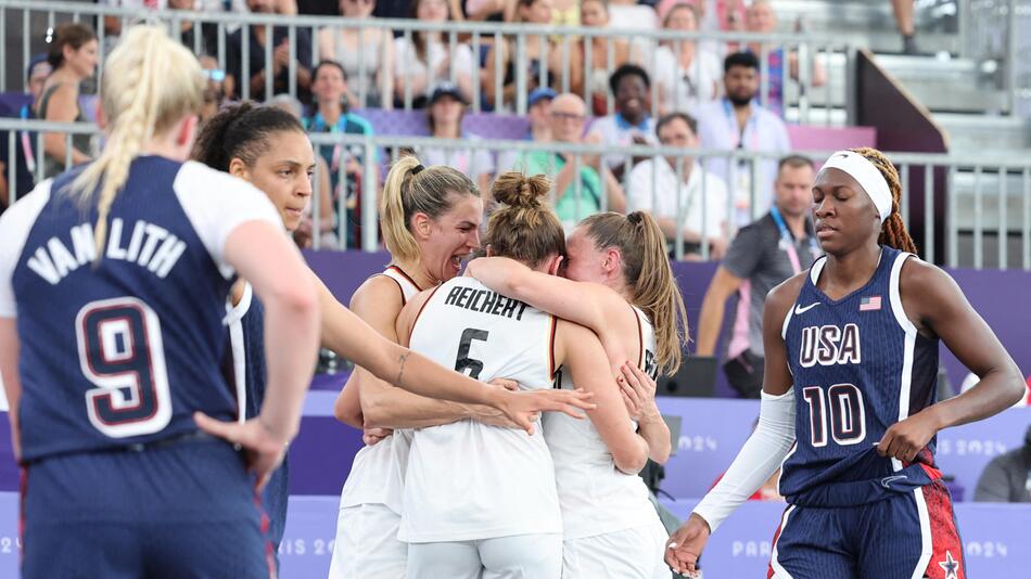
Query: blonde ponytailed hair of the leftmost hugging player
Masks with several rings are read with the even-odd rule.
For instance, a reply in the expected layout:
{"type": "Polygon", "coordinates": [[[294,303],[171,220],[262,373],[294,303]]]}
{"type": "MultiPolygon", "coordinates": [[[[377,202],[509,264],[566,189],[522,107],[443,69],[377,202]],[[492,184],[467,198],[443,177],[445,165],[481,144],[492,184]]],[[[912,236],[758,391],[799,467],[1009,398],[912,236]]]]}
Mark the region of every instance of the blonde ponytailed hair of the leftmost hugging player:
{"type": "Polygon", "coordinates": [[[423,214],[436,219],[460,196],[480,196],[480,188],[461,171],[443,165],[423,167],[413,155],[394,162],[380,200],[383,244],[394,261],[418,262],[422,249],[411,234],[411,218],[423,214]]]}

